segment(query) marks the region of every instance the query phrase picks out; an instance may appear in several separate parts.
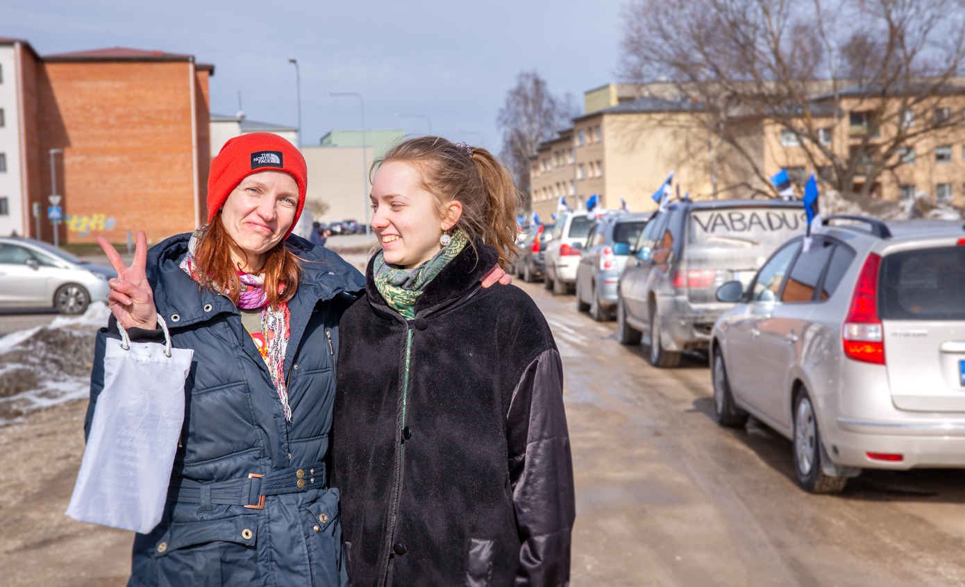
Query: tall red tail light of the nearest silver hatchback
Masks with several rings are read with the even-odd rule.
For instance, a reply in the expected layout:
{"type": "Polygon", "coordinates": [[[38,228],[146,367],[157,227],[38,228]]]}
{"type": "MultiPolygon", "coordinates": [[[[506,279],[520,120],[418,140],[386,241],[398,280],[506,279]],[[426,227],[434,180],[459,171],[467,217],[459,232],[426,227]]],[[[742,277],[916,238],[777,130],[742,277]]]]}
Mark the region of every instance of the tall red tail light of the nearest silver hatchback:
{"type": "Polygon", "coordinates": [[[871,253],[861,268],[861,275],[854,285],[851,307],[841,338],[844,354],[853,360],[885,364],[884,333],[878,318],[878,267],[881,255],[871,253]]]}

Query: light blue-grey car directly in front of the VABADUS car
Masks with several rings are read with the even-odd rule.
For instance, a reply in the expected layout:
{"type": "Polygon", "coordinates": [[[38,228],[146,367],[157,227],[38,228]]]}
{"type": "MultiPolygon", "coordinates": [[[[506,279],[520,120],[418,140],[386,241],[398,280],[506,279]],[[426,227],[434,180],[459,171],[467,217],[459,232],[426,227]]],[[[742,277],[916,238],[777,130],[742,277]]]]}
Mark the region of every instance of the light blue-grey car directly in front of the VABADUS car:
{"type": "Polygon", "coordinates": [[[617,306],[617,284],[630,258],[630,246],[637,242],[650,219],[644,214],[607,214],[590,229],[576,269],[576,309],[590,310],[593,320],[613,319],[617,306]]]}

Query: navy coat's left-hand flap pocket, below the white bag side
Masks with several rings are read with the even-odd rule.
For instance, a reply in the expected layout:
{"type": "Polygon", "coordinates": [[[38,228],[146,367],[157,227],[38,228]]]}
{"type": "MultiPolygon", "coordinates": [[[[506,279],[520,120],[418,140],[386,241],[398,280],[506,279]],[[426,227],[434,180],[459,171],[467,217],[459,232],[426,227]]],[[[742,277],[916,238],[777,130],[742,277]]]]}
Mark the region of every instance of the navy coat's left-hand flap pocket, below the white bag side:
{"type": "Polygon", "coordinates": [[[220,587],[261,579],[257,515],[173,523],[151,536],[157,585],[220,587]]]}

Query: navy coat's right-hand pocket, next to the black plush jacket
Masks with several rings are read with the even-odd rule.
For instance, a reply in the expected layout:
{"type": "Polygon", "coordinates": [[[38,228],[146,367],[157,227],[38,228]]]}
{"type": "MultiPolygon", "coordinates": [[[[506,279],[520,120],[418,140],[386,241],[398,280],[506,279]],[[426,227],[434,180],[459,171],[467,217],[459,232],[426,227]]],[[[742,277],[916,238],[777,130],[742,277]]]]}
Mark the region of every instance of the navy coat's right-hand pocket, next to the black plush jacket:
{"type": "Polygon", "coordinates": [[[302,528],[312,566],[313,585],[347,585],[342,549],[339,490],[327,489],[303,508],[302,528]]]}

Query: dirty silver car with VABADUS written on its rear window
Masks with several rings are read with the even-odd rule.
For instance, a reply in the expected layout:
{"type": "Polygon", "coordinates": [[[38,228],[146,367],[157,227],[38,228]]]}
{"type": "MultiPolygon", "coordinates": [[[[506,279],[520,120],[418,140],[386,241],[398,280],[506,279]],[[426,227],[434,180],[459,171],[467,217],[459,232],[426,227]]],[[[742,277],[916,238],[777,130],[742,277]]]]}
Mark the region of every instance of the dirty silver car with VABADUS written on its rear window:
{"type": "Polygon", "coordinates": [[[749,282],[775,249],[801,231],[800,201],[673,202],[650,220],[620,275],[617,336],[649,344],[649,360],[675,367],[685,350],[705,349],[732,303],[714,297],[730,280],[749,282]]]}

